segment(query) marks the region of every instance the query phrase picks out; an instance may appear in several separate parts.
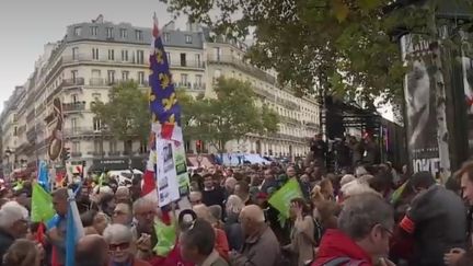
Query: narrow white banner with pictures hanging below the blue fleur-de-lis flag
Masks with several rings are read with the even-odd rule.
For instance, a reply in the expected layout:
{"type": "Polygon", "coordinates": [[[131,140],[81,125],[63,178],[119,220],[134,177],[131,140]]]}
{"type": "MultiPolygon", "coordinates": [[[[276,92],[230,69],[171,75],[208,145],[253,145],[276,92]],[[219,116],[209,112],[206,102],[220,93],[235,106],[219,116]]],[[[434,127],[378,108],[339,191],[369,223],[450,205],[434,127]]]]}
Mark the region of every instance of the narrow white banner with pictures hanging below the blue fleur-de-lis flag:
{"type": "Polygon", "coordinates": [[[159,206],[180,199],[180,186],[173,158],[173,141],[157,139],[157,183],[159,206]]]}

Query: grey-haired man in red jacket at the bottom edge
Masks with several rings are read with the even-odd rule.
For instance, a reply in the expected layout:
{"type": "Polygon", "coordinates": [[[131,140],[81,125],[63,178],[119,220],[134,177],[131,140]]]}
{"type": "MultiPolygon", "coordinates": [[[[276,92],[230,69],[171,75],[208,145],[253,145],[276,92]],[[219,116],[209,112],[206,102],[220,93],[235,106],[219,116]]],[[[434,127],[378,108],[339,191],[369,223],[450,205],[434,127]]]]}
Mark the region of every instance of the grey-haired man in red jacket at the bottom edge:
{"type": "Polygon", "coordinates": [[[394,215],[380,195],[349,197],[338,217],[338,229],[327,230],[312,266],[394,265],[385,257],[394,215]]]}

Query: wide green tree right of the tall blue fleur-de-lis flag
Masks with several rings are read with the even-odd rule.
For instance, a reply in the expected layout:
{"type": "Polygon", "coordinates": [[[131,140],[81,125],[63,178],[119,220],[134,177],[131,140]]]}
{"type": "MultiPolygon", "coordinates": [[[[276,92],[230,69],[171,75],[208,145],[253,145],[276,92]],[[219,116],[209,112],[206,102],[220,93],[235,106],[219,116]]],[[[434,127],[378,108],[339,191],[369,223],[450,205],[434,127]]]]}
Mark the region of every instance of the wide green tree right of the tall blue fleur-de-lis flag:
{"type": "Polygon", "coordinates": [[[216,97],[196,99],[177,91],[182,106],[184,138],[199,139],[223,151],[224,144],[246,134],[267,135],[278,130],[279,116],[267,106],[258,107],[249,82],[219,79],[216,97]]]}

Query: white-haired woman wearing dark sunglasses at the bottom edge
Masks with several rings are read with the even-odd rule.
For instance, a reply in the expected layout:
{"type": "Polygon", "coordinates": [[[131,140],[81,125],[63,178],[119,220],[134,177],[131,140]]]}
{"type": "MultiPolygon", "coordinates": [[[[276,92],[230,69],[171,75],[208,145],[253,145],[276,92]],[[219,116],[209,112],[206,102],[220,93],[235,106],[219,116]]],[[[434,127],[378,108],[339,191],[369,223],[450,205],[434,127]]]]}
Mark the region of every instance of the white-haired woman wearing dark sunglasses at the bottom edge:
{"type": "Polygon", "coordinates": [[[111,266],[150,266],[134,255],[132,233],[123,224],[108,225],[103,236],[108,244],[111,266]]]}

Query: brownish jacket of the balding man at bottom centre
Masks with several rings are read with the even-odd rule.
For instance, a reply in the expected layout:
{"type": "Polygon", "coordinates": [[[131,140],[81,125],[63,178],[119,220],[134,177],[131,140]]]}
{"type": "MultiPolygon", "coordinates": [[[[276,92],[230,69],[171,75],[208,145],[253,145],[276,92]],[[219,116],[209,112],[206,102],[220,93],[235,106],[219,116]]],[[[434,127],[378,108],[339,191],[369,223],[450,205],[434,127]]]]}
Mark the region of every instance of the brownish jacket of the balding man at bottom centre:
{"type": "Polygon", "coordinates": [[[230,255],[232,266],[277,266],[280,247],[273,230],[266,224],[255,236],[247,238],[241,253],[230,255]]]}

